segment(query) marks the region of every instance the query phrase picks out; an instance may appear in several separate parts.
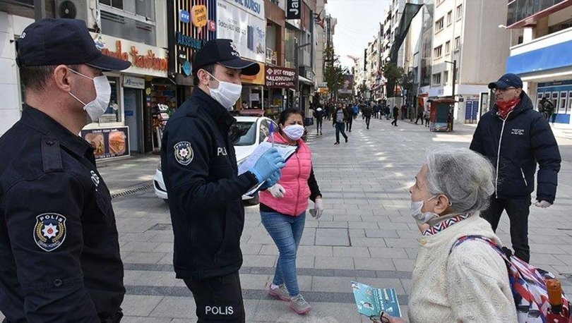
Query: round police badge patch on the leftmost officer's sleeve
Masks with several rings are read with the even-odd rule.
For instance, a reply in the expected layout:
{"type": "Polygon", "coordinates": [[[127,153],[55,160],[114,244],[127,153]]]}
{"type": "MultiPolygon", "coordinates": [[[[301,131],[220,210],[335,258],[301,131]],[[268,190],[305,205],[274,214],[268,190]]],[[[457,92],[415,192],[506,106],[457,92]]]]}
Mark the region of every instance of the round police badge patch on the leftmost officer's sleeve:
{"type": "Polygon", "coordinates": [[[47,252],[56,250],[66,239],[66,217],[57,213],[44,213],[36,217],[34,240],[47,252]]]}

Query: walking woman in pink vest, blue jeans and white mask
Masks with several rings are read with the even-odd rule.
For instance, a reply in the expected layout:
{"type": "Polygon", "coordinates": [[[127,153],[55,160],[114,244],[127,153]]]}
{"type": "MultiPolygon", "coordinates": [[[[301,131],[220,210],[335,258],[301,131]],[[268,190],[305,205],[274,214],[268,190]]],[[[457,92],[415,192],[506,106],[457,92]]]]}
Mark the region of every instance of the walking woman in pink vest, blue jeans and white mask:
{"type": "Polygon", "coordinates": [[[314,201],[314,209],[310,212],[312,217],[319,219],[323,213],[310,147],[300,139],[304,133],[303,120],[302,111],[296,109],[286,109],[280,114],[279,132],[273,133],[275,145],[296,146],[296,152],[287,159],[280,181],[260,193],[262,224],[280,253],[268,293],[287,300],[290,308],[298,314],[311,310],[300,294],[296,274],[296,253],[304,231],[308,200],[314,201]]]}

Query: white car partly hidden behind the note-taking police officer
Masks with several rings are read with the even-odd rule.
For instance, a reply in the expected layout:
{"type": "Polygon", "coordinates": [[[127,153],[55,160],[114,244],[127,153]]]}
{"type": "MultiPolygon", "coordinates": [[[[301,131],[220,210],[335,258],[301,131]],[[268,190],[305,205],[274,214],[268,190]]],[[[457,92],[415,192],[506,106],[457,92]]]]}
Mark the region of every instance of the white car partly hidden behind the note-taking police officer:
{"type": "MultiPolygon", "coordinates": [[[[234,138],[232,145],[234,145],[234,150],[237,153],[237,163],[240,164],[256,150],[261,142],[268,138],[270,123],[274,123],[276,130],[278,130],[278,126],[272,119],[263,116],[237,116],[235,118],[237,118],[237,122],[230,127],[230,138],[234,138]]],[[[167,189],[165,188],[165,181],[163,181],[160,162],[157,171],[155,171],[153,182],[155,195],[167,201],[167,189]]],[[[257,205],[258,194],[254,196],[242,195],[242,200],[249,205],[257,205]]]]}

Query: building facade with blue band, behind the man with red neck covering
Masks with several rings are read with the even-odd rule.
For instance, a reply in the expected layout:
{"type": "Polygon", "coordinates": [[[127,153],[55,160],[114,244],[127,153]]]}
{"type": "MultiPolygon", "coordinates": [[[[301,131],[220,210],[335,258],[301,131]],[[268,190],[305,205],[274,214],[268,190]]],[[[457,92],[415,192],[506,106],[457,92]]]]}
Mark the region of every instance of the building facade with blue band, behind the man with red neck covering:
{"type": "Polygon", "coordinates": [[[554,104],[552,126],[571,129],[572,2],[513,0],[507,12],[511,48],[506,71],[520,75],[535,108],[542,97],[554,104]]]}

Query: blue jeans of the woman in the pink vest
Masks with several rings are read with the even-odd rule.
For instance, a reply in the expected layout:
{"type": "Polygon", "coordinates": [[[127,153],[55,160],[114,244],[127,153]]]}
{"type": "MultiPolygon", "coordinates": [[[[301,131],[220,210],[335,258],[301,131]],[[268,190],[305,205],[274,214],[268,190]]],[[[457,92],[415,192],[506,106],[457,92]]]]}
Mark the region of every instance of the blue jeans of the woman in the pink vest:
{"type": "Polygon", "coordinates": [[[290,297],[300,293],[296,274],[296,253],[306,221],[306,212],[297,217],[290,217],[278,212],[260,212],[261,221],[266,231],[278,247],[278,262],[272,284],[286,284],[290,297]]]}

